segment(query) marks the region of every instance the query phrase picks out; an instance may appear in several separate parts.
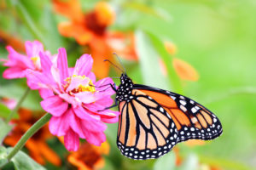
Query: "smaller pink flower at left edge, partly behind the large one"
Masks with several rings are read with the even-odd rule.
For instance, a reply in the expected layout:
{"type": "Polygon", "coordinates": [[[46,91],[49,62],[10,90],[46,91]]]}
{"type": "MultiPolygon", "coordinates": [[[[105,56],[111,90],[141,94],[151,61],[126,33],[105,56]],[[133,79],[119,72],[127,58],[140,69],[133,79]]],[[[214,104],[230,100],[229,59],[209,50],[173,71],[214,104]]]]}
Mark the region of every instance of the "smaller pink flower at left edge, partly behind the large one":
{"type": "MultiPolygon", "coordinates": [[[[9,67],[3,72],[3,77],[6,79],[26,77],[26,69],[41,71],[39,53],[41,52],[50,56],[49,51],[44,51],[43,44],[38,41],[25,42],[26,54],[19,54],[11,46],[7,46],[6,48],[9,52],[9,59],[1,59],[1,61],[4,61],[3,65],[9,67]]],[[[55,56],[51,56],[50,58],[52,61],[56,59],[55,56]]],[[[36,88],[31,87],[29,80],[27,83],[30,88],[36,88]]]]}

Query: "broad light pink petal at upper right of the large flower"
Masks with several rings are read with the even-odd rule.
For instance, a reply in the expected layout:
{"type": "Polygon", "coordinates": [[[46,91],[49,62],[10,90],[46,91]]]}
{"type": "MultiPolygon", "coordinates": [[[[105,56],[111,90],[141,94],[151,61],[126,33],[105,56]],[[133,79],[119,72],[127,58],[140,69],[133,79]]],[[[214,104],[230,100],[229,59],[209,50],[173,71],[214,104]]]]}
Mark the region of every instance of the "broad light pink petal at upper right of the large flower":
{"type": "Polygon", "coordinates": [[[92,67],[93,59],[90,54],[84,54],[77,60],[74,75],[78,76],[88,76],[92,67]]]}

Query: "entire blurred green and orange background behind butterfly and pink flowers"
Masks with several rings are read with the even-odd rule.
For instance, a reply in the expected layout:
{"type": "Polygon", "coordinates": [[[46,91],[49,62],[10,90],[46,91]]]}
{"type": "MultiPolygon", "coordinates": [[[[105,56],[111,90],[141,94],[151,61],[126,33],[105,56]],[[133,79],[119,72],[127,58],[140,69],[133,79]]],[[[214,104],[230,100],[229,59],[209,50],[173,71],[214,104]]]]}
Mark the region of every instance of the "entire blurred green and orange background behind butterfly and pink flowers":
{"type": "MultiPolygon", "coordinates": [[[[7,58],[7,45],[24,53],[28,40],[43,42],[52,54],[67,48],[69,66],[81,54],[92,54],[97,78],[120,76],[103,62],[120,65],[116,53],[134,82],[195,99],[224,129],[213,141],[185,142],[158,160],[133,161],[115,144],[117,123],[108,124],[101,147],[84,142],[77,152],[67,152],[45,127],[24,151],[47,169],[256,168],[256,1],[0,0],[0,58],[7,58]]],[[[25,79],[0,78],[4,104],[25,90],[25,79]]],[[[38,92],[29,94],[5,145],[13,146],[44,114],[40,101],[38,92]]],[[[6,117],[9,109],[0,110],[6,117]]]]}

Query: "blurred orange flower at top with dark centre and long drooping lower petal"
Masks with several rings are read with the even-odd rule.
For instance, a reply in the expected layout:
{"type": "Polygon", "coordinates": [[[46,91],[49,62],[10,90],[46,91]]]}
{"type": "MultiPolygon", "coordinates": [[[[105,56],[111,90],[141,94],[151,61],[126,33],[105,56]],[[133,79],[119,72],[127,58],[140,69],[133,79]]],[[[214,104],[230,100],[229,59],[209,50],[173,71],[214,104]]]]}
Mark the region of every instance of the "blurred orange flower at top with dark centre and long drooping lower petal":
{"type": "Polygon", "coordinates": [[[88,45],[94,58],[93,70],[96,77],[107,77],[109,65],[103,60],[112,57],[107,43],[107,28],[115,19],[111,6],[106,2],[98,2],[92,11],[84,13],[79,0],[54,0],[53,3],[55,11],[69,19],[59,24],[61,35],[75,38],[80,45],[88,45]]]}

